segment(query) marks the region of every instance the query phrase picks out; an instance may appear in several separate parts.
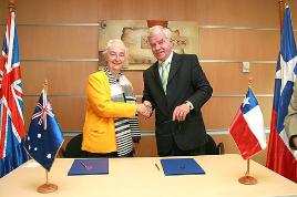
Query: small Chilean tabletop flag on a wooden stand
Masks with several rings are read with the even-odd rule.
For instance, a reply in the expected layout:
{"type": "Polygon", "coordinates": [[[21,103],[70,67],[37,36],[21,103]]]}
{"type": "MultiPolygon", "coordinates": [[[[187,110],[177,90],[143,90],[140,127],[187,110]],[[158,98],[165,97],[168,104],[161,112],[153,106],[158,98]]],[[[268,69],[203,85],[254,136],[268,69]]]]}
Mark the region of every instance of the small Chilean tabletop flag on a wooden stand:
{"type": "Polygon", "coordinates": [[[267,146],[263,113],[250,89],[233,120],[229,132],[244,159],[267,146]]]}

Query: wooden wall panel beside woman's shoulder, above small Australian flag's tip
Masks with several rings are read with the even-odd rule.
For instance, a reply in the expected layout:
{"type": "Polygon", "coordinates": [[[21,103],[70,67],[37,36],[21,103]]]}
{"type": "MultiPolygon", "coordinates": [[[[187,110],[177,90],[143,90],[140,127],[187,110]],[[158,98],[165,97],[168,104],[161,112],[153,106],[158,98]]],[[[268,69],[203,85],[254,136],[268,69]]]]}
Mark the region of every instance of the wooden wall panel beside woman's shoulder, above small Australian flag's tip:
{"type": "Polygon", "coordinates": [[[96,62],[29,62],[21,63],[23,92],[40,94],[49,82],[49,95],[85,96],[88,75],[96,72],[96,62]]]}

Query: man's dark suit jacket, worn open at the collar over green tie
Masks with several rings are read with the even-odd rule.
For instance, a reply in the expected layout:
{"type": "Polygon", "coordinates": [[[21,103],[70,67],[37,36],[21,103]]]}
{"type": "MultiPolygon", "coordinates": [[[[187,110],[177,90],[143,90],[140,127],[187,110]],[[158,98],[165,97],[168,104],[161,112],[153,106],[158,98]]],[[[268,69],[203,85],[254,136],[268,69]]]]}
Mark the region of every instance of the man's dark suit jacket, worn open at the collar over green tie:
{"type": "Polygon", "coordinates": [[[213,89],[207,81],[195,54],[173,53],[166,95],[163,91],[155,62],[143,73],[143,101],[150,101],[155,108],[155,135],[157,152],[166,154],[175,142],[180,149],[198,148],[207,141],[201,107],[212,96],[213,89]],[[190,101],[192,110],[184,122],[172,122],[176,106],[190,101]]]}

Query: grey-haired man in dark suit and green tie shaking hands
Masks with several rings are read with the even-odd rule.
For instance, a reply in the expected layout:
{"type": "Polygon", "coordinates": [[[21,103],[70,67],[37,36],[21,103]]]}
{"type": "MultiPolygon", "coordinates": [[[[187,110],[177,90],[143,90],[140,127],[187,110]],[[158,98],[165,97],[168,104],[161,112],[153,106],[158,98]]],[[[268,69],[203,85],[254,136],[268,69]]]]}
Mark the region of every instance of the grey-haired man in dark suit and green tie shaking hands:
{"type": "Polygon", "coordinates": [[[155,110],[158,155],[202,155],[207,137],[201,107],[213,89],[195,54],[173,52],[168,29],[150,28],[148,43],[157,61],[143,73],[142,101],[155,110]]]}

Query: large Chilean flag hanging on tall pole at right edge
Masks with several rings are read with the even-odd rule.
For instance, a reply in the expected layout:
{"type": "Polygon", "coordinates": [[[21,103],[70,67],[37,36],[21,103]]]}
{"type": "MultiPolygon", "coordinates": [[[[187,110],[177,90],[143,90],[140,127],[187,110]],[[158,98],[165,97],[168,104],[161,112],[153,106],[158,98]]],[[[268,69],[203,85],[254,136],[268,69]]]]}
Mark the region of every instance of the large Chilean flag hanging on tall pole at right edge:
{"type": "MultiPolygon", "coordinates": [[[[297,74],[297,50],[290,20],[289,7],[286,6],[281,30],[280,52],[276,65],[274,105],[266,166],[297,183],[297,154],[288,145],[284,120],[293,95],[297,74]]],[[[296,128],[297,129],[297,128],[296,128]]]]}

